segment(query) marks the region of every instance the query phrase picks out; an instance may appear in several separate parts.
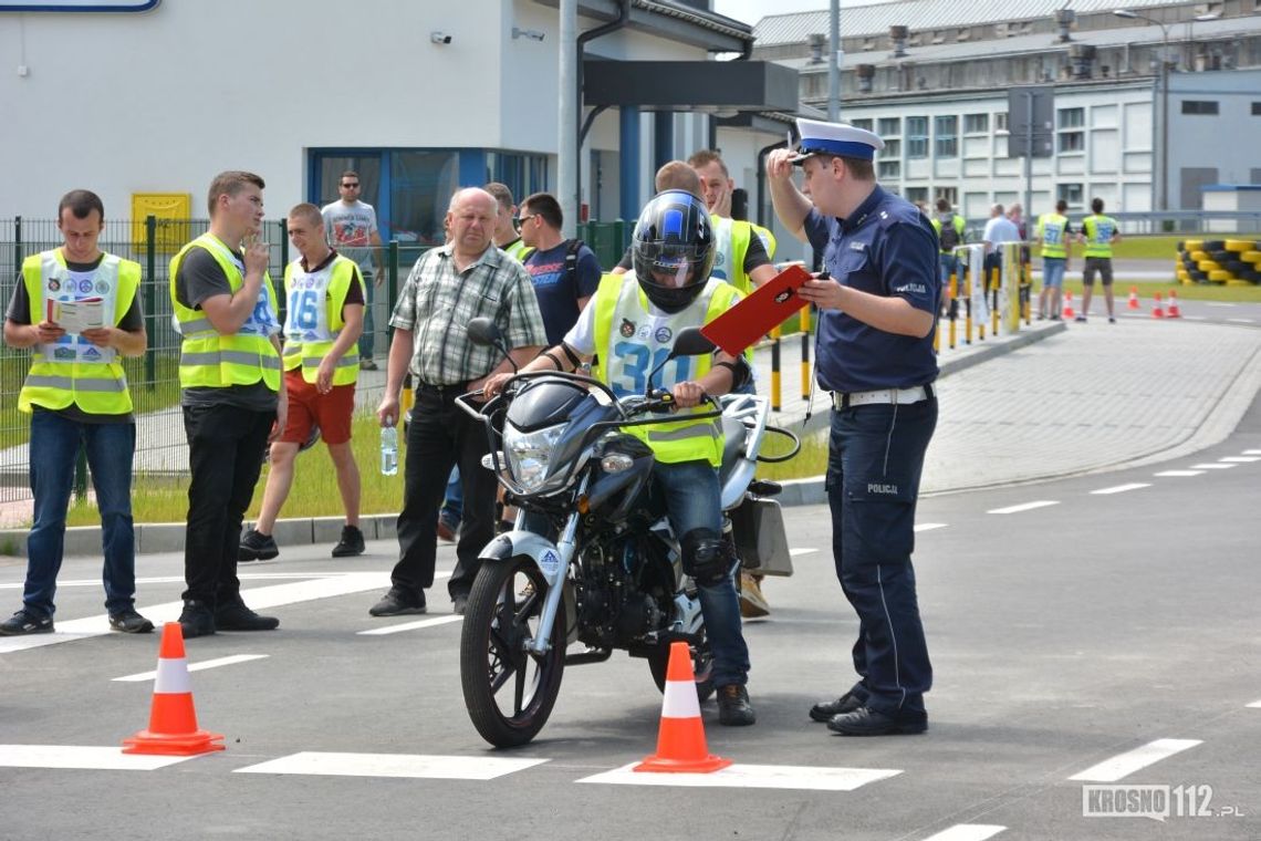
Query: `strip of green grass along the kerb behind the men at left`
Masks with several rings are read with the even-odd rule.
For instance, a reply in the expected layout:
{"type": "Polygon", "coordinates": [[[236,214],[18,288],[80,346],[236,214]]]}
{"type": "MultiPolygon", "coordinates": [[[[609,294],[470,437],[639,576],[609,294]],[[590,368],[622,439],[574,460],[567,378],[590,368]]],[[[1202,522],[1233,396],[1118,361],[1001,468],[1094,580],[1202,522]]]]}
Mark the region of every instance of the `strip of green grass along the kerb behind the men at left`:
{"type": "MultiPolygon", "coordinates": [[[[397,513],[402,506],[401,454],[400,473],[392,477],[381,475],[381,438],[376,417],[366,414],[357,416],[352,436],[362,483],[361,513],[397,513]]],[[[262,489],[267,484],[267,465],[264,465],[253,501],[246,513],[248,519],[259,516],[262,489]]],[[[298,456],[294,487],[280,516],[282,518],[337,517],[343,513],[333,461],[328,458],[328,449],[319,444],[298,456]]],[[[136,477],[131,490],[131,514],[137,523],[184,522],[188,514],[188,477],[136,477]]],[[[71,506],[67,522],[71,526],[95,526],[101,518],[96,506],[84,502],[71,506]]]]}

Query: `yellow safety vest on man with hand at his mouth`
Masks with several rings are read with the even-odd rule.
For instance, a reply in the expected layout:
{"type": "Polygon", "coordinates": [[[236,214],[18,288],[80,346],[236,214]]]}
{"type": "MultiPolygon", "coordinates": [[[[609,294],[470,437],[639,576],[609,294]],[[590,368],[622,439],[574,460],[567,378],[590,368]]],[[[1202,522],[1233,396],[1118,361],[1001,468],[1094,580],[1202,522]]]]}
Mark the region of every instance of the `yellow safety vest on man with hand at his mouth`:
{"type": "Polygon", "coordinates": [[[180,335],[184,337],[179,352],[180,388],[226,388],[228,386],[248,386],[260,380],[272,391],[280,391],[280,354],[276,353],[271,338],[264,325],[270,318],[275,322],[271,309],[276,300],[276,290],[267,272],[262,275],[266,299],[259,296],[255,313],[250,315],[236,333],[222,334],[214,329],[206,313],[182,304],[175,295],[175,277],[184,255],[193,248],[206,248],[219,264],[228,279],[233,294],[245,284],[245,271],[236,261],[232,251],[218,237],[203,233],[170,261],[170,303],[175,311],[180,335]],[[266,311],[260,311],[265,309],[266,311]]]}

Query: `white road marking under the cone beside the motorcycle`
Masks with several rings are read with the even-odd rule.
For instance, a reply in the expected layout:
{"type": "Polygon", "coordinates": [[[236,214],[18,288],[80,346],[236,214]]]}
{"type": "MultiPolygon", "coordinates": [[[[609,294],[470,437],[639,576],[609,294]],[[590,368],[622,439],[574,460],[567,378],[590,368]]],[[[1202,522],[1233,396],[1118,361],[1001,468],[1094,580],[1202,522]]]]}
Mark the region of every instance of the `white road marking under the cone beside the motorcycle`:
{"type": "Polygon", "coordinates": [[[817,792],[852,792],[860,786],[900,774],[892,768],[810,768],[806,765],[728,765],[709,774],[637,773],[630,763],[580,783],[615,786],[685,786],[695,788],[796,788],[817,792]]]}

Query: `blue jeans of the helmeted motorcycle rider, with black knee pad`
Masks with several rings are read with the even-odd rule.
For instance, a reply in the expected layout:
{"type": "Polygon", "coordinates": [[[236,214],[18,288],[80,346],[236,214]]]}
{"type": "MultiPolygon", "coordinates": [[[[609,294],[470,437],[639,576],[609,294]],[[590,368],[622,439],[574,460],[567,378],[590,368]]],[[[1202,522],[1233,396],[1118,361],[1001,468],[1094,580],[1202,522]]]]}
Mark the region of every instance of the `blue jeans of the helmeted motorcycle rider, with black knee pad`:
{"type": "MultiPolygon", "coordinates": [[[[652,468],[657,489],[666,501],[670,525],[680,541],[691,531],[723,537],[723,501],[718,470],[709,461],[681,461],[652,468]]],[[[690,569],[685,559],[685,569],[690,569]]],[[[735,595],[734,564],[712,586],[697,586],[701,614],[714,653],[714,685],[744,685],[749,675],[749,647],[740,625],[740,600],[735,595]]]]}

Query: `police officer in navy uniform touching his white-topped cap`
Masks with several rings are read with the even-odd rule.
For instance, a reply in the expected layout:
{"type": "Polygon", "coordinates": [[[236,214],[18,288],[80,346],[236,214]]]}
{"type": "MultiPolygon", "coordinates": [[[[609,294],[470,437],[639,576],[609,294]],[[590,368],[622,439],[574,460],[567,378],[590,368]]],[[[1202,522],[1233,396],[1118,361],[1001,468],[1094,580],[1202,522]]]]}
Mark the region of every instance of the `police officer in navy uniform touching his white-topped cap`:
{"type": "Polygon", "coordinates": [[[910,554],[919,474],[937,426],[937,236],[913,204],[876,184],[880,137],[813,120],[797,127],[798,151],[773,151],[767,168],[779,221],[823,255],[826,274],[801,296],[821,310],[817,376],[834,398],[832,552],[859,615],[860,680],[810,716],[845,735],[923,733],[932,666],[910,554]],[[805,173],[801,190],[794,164],[805,173]]]}

